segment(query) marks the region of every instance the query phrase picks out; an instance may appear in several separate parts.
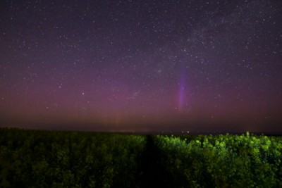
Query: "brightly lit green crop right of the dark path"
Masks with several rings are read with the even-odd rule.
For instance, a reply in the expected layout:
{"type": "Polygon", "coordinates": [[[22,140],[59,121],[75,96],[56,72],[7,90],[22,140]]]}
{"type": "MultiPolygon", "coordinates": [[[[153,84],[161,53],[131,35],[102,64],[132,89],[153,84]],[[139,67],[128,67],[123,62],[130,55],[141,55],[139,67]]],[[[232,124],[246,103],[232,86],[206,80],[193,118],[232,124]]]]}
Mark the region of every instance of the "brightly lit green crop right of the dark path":
{"type": "Polygon", "coordinates": [[[282,187],[281,137],[247,132],[155,142],[174,187],[282,187]]]}

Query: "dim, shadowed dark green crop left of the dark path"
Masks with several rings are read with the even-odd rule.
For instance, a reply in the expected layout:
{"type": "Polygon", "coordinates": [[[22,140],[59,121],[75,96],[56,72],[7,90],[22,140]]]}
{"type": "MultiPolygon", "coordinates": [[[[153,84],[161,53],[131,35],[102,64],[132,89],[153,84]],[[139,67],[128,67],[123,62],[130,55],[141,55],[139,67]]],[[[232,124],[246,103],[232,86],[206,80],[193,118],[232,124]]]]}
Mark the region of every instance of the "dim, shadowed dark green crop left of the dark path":
{"type": "Polygon", "coordinates": [[[0,187],[130,187],[144,146],[138,135],[2,129],[0,187]]]}

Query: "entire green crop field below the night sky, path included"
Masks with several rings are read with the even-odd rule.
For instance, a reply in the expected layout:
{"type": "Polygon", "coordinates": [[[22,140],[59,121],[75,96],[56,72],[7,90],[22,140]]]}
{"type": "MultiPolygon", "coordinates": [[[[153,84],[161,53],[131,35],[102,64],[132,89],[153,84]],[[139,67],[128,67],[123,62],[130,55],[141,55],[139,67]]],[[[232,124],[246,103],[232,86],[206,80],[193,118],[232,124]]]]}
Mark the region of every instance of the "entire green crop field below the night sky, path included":
{"type": "Polygon", "coordinates": [[[0,187],[282,187],[282,137],[2,128],[0,187]]]}

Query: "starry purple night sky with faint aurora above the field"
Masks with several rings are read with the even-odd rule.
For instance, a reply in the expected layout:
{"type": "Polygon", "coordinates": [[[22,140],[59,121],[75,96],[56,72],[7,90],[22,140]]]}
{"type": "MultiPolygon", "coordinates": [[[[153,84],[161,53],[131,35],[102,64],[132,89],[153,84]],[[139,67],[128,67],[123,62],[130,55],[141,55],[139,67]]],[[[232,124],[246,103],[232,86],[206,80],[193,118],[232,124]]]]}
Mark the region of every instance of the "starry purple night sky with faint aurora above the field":
{"type": "Polygon", "coordinates": [[[0,126],[282,132],[282,1],[1,1],[0,126]]]}

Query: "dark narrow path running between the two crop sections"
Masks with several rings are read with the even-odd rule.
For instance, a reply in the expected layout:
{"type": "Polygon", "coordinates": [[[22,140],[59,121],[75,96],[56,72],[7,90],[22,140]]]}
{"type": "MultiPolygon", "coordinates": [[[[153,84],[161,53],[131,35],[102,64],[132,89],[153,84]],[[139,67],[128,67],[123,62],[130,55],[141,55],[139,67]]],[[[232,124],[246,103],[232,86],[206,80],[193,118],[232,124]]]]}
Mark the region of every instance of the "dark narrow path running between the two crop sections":
{"type": "Polygon", "coordinates": [[[138,178],[137,187],[172,187],[171,177],[161,166],[159,151],[154,144],[154,136],[147,136],[147,144],[140,164],[142,175],[138,178]]]}

